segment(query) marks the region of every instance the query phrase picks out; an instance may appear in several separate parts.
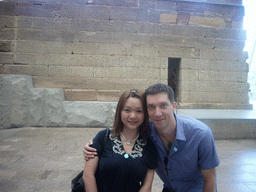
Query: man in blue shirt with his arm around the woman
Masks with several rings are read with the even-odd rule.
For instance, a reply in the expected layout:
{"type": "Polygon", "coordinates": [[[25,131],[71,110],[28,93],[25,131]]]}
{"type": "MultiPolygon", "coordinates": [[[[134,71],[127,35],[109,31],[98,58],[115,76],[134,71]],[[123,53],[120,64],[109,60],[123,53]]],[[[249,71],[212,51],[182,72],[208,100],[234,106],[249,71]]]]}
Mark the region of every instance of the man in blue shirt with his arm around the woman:
{"type": "MultiPolygon", "coordinates": [[[[160,156],[156,172],[164,182],[163,192],[216,191],[215,168],[220,161],[210,128],[196,119],[175,115],[174,93],[167,85],[148,87],[145,97],[149,138],[160,156]]],[[[87,144],[85,158],[95,154],[89,151],[92,148],[87,144]]]]}

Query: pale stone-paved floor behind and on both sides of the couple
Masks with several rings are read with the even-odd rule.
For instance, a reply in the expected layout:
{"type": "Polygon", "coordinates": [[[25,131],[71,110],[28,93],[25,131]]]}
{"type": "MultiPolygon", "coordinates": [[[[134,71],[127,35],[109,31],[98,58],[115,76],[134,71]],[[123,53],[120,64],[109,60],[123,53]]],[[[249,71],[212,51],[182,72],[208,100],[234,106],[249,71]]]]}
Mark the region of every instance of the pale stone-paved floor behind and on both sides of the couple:
{"type": "MultiPolygon", "coordinates": [[[[18,128],[0,130],[0,191],[70,191],[83,169],[84,144],[99,128],[18,128]]],[[[256,139],[217,140],[221,160],[218,192],[256,191],[256,139]]],[[[156,176],[153,190],[162,183],[156,176]]]]}

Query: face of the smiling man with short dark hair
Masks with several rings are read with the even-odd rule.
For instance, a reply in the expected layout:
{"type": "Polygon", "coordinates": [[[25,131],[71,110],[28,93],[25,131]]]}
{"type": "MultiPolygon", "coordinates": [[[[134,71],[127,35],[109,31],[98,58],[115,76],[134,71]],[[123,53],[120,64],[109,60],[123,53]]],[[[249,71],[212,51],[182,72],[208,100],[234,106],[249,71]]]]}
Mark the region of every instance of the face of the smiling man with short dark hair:
{"type": "Polygon", "coordinates": [[[176,103],[171,103],[167,93],[158,93],[156,95],[147,96],[149,118],[156,129],[161,130],[173,125],[176,126],[175,117],[173,115],[175,107],[176,103]]]}

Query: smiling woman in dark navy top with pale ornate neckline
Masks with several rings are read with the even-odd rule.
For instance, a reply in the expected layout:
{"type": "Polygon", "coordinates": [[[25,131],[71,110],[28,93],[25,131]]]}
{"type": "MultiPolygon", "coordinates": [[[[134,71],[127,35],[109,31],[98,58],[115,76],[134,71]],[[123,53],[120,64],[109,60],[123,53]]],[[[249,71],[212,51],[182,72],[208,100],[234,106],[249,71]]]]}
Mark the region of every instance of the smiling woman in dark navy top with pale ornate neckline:
{"type": "Polygon", "coordinates": [[[117,104],[113,131],[104,147],[106,131],[93,140],[96,156],[86,162],[83,180],[86,192],[151,191],[157,151],[147,140],[148,114],[142,94],[124,92],[117,104]]]}

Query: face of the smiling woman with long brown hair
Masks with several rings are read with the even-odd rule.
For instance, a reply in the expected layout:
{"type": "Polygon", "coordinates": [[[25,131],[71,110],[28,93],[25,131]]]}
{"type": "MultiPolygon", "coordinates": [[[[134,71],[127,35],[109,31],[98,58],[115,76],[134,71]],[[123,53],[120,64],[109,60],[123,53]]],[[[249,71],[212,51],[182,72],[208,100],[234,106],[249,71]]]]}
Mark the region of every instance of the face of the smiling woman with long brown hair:
{"type": "Polygon", "coordinates": [[[138,98],[130,97],[121,111],[123,129],[138,129],[144,121],[142,102],[138,98]]]}

